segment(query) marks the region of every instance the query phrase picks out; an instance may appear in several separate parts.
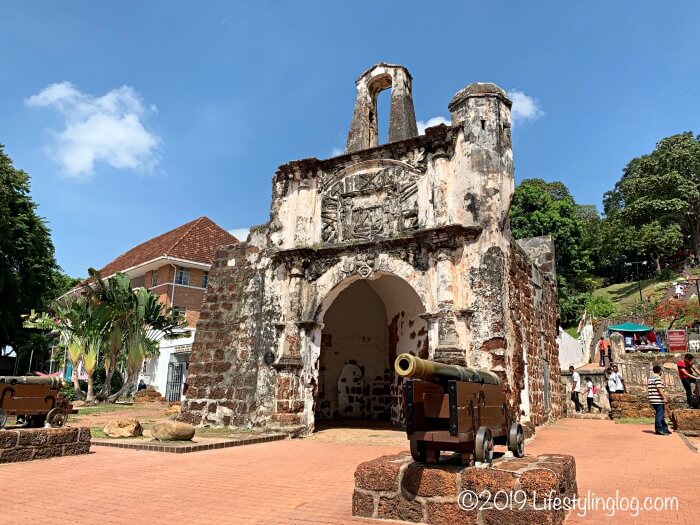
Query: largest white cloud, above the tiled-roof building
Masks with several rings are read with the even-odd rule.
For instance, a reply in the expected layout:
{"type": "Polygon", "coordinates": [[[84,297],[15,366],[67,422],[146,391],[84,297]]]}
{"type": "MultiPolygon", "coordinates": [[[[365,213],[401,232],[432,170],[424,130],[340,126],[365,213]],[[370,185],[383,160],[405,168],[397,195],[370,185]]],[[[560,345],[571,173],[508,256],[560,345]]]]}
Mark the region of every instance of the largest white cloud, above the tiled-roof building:
{"type": "Polygon", "coordinates": [[[158,163],[160,138],[143,123],[144,116],[157,108],[144,107],[129,86],[94,97],[70,82],[60,82],[25,99],[25,104],[53,108],[63,115],[65,128],[52,133],[47,152],[68,177],[91,178],[96,162],[139,172],[150,171],[158,163]]]}

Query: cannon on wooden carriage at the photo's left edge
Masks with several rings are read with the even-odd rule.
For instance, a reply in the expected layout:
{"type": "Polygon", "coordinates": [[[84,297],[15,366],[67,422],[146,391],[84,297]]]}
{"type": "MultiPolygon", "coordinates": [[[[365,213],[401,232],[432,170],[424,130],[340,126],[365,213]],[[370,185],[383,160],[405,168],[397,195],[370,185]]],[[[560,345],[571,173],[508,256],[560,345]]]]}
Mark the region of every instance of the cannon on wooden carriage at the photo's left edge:
{"type": "Polygon", "coordinates": [[[78,412],[61,395],[63,385],[56,376],[0,376],[0,429],[8,415],[22,417],[28,427],[62,427],[78,412]]]}

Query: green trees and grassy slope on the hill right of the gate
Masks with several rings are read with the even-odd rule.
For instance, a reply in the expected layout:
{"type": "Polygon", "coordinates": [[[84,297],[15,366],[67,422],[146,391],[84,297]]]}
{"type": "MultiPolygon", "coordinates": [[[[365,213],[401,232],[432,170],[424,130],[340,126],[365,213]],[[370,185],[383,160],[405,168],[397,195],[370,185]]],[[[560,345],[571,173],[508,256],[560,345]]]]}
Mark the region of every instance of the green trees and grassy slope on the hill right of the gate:
{"type": "Polygon", "coordinates": [[[597,317],[653,317],[680,276],[666,267],[698,257],[700,137],[673,135],[630,160],[604,195],[603,208],[601,216],[595,206],[577,204],[562,182],[527,179],[515,190],[514,237],[551,235],[554,240],[565,326],[575,324],[584,309],[597,317]]]}

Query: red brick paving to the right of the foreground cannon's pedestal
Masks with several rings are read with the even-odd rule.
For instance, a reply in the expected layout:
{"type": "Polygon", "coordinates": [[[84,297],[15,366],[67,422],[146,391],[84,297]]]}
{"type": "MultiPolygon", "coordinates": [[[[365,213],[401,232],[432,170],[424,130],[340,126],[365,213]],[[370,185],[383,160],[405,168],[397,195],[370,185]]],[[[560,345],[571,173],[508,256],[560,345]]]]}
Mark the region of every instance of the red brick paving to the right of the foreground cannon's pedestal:
{"type": "Polygon", "coordinates": [[[564,419],[539,429],[529,454],[561,452],[576,458],[579,496],[678,497],[678,511],[640,511],[637,517],[618,510],[614,516],[571,513],[578,523],[697,524],[700,520],[700,454],[681,437],[657,436],[652,425],[620,425],[612,421],[564,419]]]}

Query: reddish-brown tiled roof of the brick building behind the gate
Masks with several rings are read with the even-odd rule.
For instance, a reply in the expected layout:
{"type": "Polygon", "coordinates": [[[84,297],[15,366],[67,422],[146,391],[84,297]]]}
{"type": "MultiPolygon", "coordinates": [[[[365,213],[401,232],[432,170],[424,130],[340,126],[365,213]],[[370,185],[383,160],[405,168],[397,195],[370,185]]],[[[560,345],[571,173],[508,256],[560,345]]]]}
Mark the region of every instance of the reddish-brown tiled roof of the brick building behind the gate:
{"type": "Polygon", "coordinates": [[[105,265],[100,273],[103,277],[109,277],[165,256],[211,264],[220,246],[237,242],[238,239],[214,221],[200,217],[121,254],[105,265]]]}

